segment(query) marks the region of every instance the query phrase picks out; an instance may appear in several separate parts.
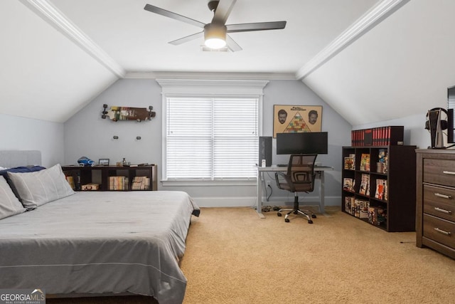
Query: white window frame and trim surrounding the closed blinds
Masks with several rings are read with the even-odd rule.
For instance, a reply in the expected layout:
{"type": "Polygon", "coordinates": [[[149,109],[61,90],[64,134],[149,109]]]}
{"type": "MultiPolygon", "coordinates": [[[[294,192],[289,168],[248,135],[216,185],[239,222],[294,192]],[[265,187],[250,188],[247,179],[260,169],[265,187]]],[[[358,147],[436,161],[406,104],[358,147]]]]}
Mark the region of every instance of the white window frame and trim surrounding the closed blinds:
{"type": "Polygon", "coordinates": [[[182,80],[157,79],[161,85],[162,97],[162,168],[163,186],[206,186],[206,185],[245,185],[255,184],[256,178],[239,180],[165,180],[166,174],[166,98],[172,97],[255,97],[258,98],[258,135],[262,136],[263,89],[268,80],[182,80]]]}

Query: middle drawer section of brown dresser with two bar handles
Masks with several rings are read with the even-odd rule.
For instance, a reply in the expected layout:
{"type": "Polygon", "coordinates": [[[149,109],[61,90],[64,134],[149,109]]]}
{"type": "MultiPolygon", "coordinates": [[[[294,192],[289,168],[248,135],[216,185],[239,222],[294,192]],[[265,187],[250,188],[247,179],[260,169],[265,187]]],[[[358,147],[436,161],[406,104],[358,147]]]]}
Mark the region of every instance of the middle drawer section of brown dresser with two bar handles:
{"type": "Polygon", "coordinates": [[[455,221],[455,189],[424,185],[424,213],[455,221]]]}

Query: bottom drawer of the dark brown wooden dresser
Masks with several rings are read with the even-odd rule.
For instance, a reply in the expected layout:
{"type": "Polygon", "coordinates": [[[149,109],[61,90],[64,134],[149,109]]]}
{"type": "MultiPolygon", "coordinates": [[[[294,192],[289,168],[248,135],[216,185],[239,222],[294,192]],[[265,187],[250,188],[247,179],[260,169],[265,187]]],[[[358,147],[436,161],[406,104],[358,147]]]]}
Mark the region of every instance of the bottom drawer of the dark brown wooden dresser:
{"type": "Polygon", "coordinates": [[[424,214],[423,236],[455,248],[455,223],[424,214]]]}

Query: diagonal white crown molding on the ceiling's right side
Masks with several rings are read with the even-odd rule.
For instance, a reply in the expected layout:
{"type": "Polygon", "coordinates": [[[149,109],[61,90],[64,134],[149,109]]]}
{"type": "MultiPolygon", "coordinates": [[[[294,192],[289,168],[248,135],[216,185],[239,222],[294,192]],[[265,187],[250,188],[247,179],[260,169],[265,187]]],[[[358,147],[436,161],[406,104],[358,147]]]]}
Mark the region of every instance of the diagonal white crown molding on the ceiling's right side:
{"type": "Polygon", "coordinates": [[[303,80],[306,76],[313,73],[314,70],[329,61],[333,56],[343,51],[344,48],[353,43],[355,40],[368,33],[381,21],[407,4],[410,0],[382,0],[372,9],[367,11],[363,16],[355,21],[346,31],[335,38],[326,48],[323,48],[311,61],[308,61],[296,73],[296,79],[303,80]]]}

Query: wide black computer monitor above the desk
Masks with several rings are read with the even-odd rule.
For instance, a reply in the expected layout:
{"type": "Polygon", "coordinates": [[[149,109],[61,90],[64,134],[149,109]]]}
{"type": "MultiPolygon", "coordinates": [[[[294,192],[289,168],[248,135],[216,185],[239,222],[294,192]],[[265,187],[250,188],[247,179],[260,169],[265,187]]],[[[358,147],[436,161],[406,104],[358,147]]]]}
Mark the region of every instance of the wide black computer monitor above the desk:
{"type": "Polygon", "coordinates": [[[277,133],[277,154],[327,154],[327,132],[277,133]]]}

